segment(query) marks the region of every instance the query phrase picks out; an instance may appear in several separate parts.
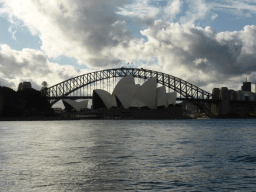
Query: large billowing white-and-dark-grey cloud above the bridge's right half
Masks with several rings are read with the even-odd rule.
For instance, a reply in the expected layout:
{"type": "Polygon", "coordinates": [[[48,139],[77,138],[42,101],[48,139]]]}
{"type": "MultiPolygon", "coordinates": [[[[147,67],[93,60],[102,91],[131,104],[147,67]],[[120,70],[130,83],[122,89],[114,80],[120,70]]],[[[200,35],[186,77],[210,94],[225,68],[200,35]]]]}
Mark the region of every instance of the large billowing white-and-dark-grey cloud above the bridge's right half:
{"type": "Polygon", "coordinates": [[[116,53],[147,63],[154,59],[160,71],[207,86],[243,74],[252,76],[256,71],[255,27],[217,33],[211,27],[158,20],[141,31],[147,41],[130,42],[125,52],[117,48],[116,53]]]}

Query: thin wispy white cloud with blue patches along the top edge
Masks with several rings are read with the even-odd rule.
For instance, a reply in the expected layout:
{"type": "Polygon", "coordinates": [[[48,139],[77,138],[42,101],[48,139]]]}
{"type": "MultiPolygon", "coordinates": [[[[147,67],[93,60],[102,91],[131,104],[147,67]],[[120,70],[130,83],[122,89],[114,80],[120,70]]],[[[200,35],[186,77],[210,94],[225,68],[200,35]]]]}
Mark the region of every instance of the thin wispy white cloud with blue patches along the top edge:
{"type": "Polygon", "coordinates": [[[154,6],[157,0],[138,0],[118,7],[117,14],[134,18],[133,21],[142,26],[150,26],[155,20],[178,21],[182,24],[194,24],[196,21],[205,20],[206,18],[214,20],[216,13],[211,12],[218,4],[208,3],[205,0],[168,0],[166,6],[154,6]],[[185,5],[185,6],[183,6],[185,5]],[[187,7],[187,8],[186,8],[187,7]]]}

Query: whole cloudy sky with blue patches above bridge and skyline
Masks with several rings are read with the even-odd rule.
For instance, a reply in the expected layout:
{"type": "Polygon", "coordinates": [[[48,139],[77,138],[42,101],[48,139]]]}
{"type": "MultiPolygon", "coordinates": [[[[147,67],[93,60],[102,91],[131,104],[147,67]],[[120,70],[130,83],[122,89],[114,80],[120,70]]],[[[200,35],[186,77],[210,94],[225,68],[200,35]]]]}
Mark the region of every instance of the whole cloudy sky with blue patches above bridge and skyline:
{"type": "Polygon", "coordinates": [[[0,29],[15,90],[128,62],[207,91],[256,82],[256,0],[0,0],[0,29]]]}

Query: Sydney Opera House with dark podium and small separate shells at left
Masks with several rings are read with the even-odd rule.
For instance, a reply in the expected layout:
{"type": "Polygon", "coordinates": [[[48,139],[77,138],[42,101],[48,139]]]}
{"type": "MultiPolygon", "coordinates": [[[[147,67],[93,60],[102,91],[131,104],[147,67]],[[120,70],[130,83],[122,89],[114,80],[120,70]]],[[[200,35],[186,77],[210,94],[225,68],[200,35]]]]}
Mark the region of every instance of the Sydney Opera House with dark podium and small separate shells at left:
{"type": "MultiPolygon", "coordinates": [[[[93,90],[92,109],[103,119],[174,119],[183,118],[176,104],[176,92],[166,93],[164,86],[157,87],[156,77],[142,85],[135,84],[128,75],[115,86],[112,94],[102,89],[93,90]]],[[[80,103],[63,100],[64,105],[80,111],[87,109],[88,101],[80,103]]]]}

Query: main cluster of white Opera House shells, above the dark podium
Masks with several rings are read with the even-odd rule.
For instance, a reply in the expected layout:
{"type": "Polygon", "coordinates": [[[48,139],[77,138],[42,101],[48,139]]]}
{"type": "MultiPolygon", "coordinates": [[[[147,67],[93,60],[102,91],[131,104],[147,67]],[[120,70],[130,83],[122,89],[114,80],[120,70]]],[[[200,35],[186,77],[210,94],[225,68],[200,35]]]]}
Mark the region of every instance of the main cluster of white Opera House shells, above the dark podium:
{"type": "Polygon", "coordinates": [[[164,86],[157,88],[156,77],[144,84],[135,84],[132,75],[121,79],[112,94],[102,89],[93,90],[93,108],[168,108],[176,104],[177,93],[166,93],[164,86]]]}

